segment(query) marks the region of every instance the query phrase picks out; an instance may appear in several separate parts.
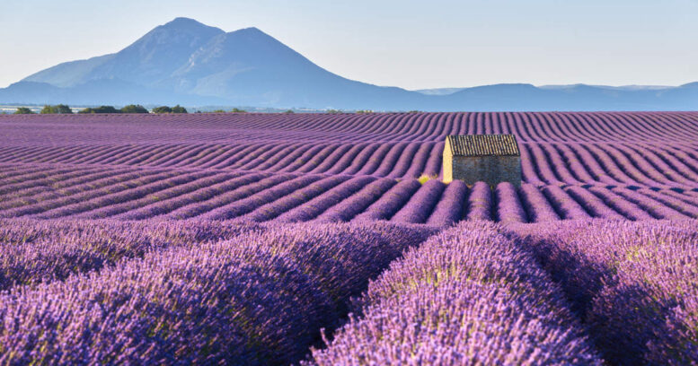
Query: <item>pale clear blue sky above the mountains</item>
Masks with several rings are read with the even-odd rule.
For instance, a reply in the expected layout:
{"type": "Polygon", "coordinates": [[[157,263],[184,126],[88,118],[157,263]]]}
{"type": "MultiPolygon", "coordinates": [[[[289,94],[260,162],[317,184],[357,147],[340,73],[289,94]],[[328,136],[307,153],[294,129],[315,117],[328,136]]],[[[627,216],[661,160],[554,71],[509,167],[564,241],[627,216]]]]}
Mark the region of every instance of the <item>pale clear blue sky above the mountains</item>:
{"type": "Polygon", "coordinates": [[[698,81],[698,0],[2,0],[0,87],[184,16],[405,89],[698,81]]]}

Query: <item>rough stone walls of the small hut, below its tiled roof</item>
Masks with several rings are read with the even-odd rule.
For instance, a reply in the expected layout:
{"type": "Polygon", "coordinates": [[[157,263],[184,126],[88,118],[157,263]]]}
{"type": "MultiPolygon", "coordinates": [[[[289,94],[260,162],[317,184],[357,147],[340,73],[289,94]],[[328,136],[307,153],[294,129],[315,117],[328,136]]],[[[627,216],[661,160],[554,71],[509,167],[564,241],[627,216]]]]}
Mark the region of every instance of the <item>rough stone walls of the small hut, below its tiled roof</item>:
{"type": "MultiPolygon", "coordinates": [[[[510,182],[521,186],[521,159],[518,156],[454,156],[452,179],[464,180],[471,185],[484,181],[490,186],[510,182]]],[[[447,161],[444,161],[445,167],[447,161]]],[[[450,174],[449,174],[450,175],[450,174]]],[[[446,169],[444,169],[444,181],[446,169]]]]}

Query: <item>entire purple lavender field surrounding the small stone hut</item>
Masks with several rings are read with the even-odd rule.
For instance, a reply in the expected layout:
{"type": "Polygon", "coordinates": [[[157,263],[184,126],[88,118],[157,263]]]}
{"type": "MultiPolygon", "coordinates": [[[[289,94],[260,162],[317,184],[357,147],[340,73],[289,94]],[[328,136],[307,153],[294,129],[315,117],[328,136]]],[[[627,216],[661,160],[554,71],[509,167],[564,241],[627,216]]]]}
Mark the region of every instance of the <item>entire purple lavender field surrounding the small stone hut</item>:
{"type": "Polygon", "coordinates": [[[698,364],[696,219],[698,112],[0,116],[0,365],[698,364]]]}

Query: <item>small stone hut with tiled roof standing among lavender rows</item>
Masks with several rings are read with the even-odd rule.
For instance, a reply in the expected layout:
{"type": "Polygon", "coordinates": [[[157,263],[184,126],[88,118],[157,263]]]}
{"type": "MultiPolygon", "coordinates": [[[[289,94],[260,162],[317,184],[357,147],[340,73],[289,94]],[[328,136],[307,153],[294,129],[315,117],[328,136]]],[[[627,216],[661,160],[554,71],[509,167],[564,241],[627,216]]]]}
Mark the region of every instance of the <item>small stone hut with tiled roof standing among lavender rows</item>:
{"type": "Polygon", "coordinates": [[[444,146],[444,182],[454,179],[490,186],[521,186],[521,153],[515,135],[448,135],[444,146]]]}

